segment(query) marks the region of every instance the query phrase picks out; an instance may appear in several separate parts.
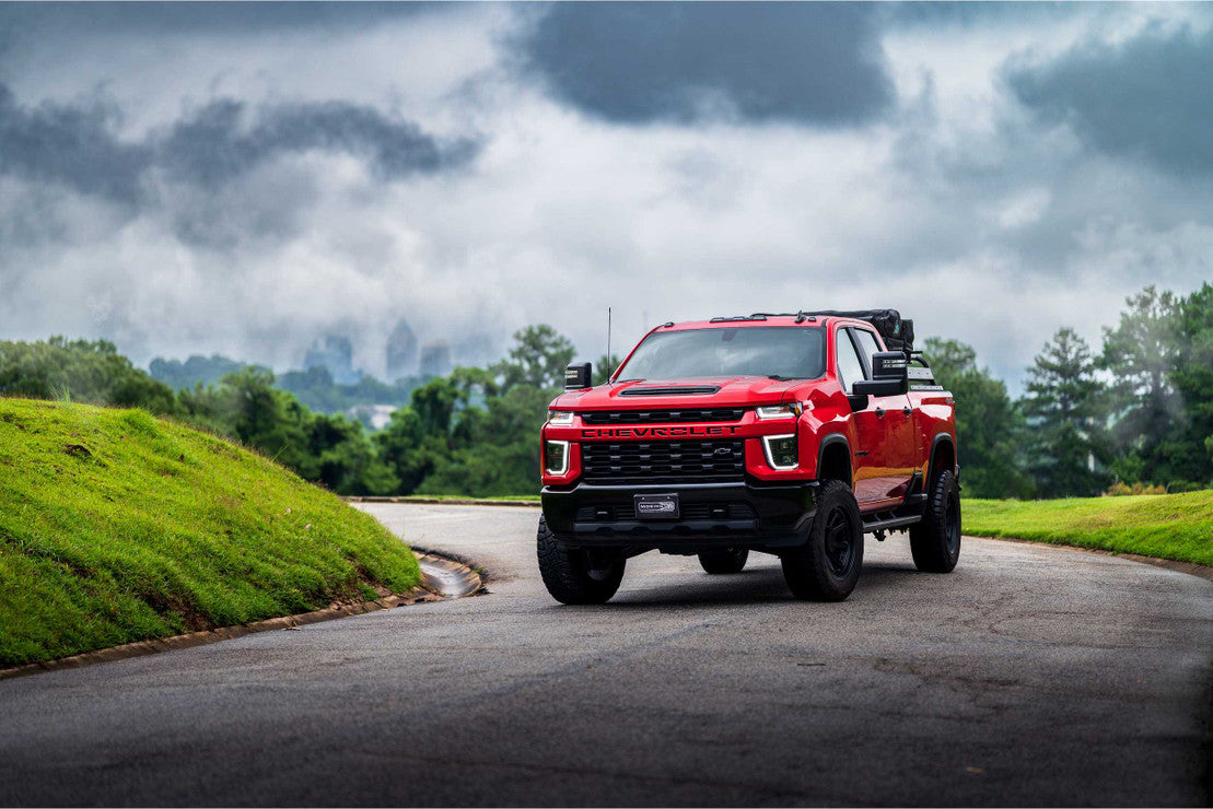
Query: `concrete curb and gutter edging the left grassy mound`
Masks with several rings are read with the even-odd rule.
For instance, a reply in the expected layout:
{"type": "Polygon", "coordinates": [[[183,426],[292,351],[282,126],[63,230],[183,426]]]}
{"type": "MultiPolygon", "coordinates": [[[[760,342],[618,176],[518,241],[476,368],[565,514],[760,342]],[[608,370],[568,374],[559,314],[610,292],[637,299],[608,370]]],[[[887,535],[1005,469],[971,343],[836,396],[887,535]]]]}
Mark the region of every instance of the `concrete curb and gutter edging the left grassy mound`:
{"type": "Polygon", "coordinates": [[[349,604],[334,604],[321,610],[301,613],[298,615],[283,615],[279,617],[254,621],[239,626],[226,626],[204,632],[188,632],[186,634],[172,636],[171,638],[153,638],[150,640],[136,640],[124,643],[120,646],[98,649],[96,651],[84,651],[69,657],[47,660],[38,663],[25,663],[13,668],[0,668],[0,680],[13,677],[25,677],[28,674],[40,674],[42,672],[56,671],[58,668],[79,668],[114,660],[127,660],[129,657],[142,657],[173,649],[192,649],[204,646],[220,640],[232,640],[243,638],[257,632],[270,632],[274,629],[294,629],[308,623],[332,621],[335,619],[348,617],[351,615],[363,615],[365,613],[378,613],[395,606],[406,606],[420,602],[440,602],[455,598],[466,598],[478,593],[488,592],[480,575],[463,562],[457,562],[437,551],[414,551],[417,563],[421,566],[421,583],[405,593],[385,592],[380,598],[371,602],[353,602],[349,604]]]}

